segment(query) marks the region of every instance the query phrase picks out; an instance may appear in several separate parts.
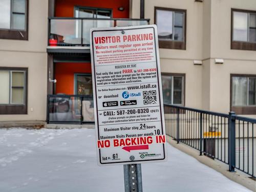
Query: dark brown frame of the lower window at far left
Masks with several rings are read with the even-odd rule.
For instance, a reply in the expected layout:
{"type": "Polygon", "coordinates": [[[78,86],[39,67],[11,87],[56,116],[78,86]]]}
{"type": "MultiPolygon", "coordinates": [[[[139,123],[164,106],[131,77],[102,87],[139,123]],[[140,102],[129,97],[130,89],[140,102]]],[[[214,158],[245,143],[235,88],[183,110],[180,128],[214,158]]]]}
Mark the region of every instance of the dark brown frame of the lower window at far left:
{"type": "MultiPolygon", "coordinates": [[[[28,68],[15,68],[15,67],[0,67],[0,70],[7,71],[24,71],[25,83],[24,83],[24,103],[23,104],[0,104],[0,115],[18,115],[28,114],[28,68]]],[[[12,85],[10,84],[9,88],[12,85]]],[[[10,90],[9,90],[10,93],[10,90]]],[[[11,96],[9,95],[9,98],[11,96]]]]}

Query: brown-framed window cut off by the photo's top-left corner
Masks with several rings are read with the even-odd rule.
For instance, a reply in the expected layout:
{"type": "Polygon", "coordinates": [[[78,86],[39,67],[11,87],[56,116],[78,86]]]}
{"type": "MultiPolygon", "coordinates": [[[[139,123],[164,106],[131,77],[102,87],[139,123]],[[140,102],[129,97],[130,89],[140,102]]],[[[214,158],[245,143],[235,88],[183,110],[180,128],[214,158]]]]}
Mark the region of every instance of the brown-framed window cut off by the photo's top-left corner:
{"type": "Polygon", "coordinates": [[[28,40],[28,0],[0,1],[0,38],[28,40]]]}

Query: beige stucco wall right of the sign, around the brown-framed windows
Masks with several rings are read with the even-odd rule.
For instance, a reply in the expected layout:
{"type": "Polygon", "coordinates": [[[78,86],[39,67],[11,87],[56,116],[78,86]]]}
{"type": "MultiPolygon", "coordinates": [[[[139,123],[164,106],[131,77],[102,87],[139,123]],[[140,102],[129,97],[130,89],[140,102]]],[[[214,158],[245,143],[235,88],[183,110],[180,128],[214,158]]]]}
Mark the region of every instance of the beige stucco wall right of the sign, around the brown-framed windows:
{"type": "MultiPolygon", "coordinates": [[[[132,1],[132,18],[139,18],[140,1],[132,1]]],[[[185,73],[185,105],[228,113],[230,74],[256,74],[256,52],[231,50],[231,8],[256,10],[255,0],[147,0],[145,18],[154,24],[154,7],[187,10],[186,50],[160,49],[161,71],[185,73]],[[215,58],[224,59],[215,64],[215,58]],[[202,66],[193,60],[202,60],[202,66]]]]}

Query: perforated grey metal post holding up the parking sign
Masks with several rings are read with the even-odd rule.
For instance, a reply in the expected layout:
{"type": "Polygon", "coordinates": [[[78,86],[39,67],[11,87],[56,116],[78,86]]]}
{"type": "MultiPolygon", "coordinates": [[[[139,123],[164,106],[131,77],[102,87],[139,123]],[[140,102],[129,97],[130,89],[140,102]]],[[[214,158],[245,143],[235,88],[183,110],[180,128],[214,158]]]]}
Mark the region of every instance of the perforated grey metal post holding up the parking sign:
{"type": "Polygon", "coordinates": [[[124,191],[142,192],[141,164],[123,165],[124,191]]]}

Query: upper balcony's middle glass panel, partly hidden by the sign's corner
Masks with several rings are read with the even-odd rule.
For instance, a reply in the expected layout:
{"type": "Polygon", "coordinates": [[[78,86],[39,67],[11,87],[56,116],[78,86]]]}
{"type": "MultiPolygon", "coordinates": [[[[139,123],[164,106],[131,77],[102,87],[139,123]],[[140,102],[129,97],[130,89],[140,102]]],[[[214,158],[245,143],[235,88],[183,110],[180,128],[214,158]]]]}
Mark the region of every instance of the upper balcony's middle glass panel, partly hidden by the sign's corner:
{"type": "Polygon", "coordinates": [[[114,27],[114,20],[84,19],[82,20],[82,42],[83,45],[90,45],[90,29],[100,27],[114,27]]]}

